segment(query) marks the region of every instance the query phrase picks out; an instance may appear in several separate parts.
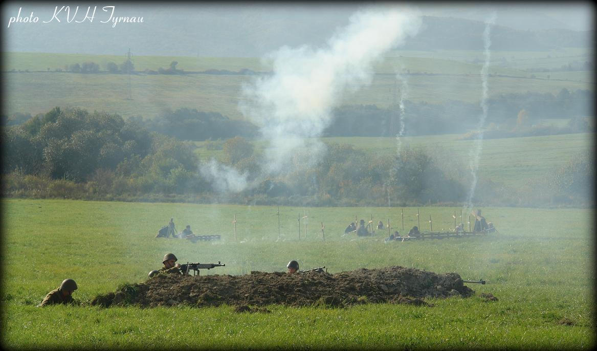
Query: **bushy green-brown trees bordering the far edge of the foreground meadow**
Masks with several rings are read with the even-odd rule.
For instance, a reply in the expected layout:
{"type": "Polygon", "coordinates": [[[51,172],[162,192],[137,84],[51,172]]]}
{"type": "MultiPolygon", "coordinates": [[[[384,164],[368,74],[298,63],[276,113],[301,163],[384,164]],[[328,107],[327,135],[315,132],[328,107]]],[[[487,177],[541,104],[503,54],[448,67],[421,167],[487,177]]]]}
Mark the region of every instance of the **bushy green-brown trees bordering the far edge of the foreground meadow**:
{"type": "MultiPolygon", "coordinates": [[[[261,174],[264,155],[243,137],[224,141],[224,164],[254,186],[234,194],[214,192],[201,170],[195,144],[148,131],[119,115],[56,107],[21,125],[2,129],[4,196],[121,201],[226,201],[238,204],[318,206],[458,204],[466,198],[466,167],[444,169],[433,152],[403,147],[371,155],[329,144],[316,164],[292,156],[293,167],[261,174]],[[461,168],[461,170],[460,170],[461,168]]],[[[582,154],[523,192],[479,180],[476,203],[587,204],[592,158],[582,154]],[[521,202],[522,201],[522,202],[521,202]]]]}

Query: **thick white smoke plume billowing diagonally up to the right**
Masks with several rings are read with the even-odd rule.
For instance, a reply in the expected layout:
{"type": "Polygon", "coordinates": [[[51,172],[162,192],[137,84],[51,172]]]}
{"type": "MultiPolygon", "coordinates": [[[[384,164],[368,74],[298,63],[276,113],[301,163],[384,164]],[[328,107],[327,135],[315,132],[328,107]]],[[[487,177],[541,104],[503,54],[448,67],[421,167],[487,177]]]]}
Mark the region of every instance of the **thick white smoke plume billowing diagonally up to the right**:
{"type": "MultiPolygon", "coordinates": [[[[306,144],[304,139],[321,136],[344,91],[371,84],[373,63],[388,50],[402,45],[407,36],[414,36],[419,27],[420,17],[413,10],[372,7],[353,14],[350,24],[324,48],[282,47],[267,55],[273,75],[244,85],[244,98],[239,104],[245,118],[258,125],[269,142],[261,177],[291,171],[291,159],[298,149],[307,149],[307,155],[311,155],[307,163],[315,162],[325,146],[317,140],[306,144]]],[[[216,185],[221,191],[244,189],[235,170],[212,164],[205,173],[218,180],[216,185]],[[227,181],[229,177],[233,181],[227,181]]],[[[244,186],[250,185],[245,179],[244,186]]]]}

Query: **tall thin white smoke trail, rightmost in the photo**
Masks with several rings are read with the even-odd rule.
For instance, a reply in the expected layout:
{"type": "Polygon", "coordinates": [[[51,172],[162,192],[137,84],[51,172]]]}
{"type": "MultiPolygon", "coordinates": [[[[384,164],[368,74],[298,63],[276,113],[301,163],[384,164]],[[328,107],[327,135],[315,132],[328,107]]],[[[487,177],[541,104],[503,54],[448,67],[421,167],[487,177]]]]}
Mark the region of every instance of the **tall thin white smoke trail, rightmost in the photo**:
{"type": "Polygon", "coordinates": [[[488,85],[487,85],[487,76],[489,72],[489,64],[490,64],[490,56],[491,52],[489,50],[491,46],[491,25],[496,23],[496,13],[492,13],[490,18],[485,21],[485,30],[483,31],[483,44],[485,48],[485,62],[483,63],[483,67],[481,68],[481,79],[482,79],[482,90],[481,90],[481,117],[479,118],[479,124],[477,125],[477,137],[475,138],[474,147],[470,149],[469,156],[470,156],[470,173],[473,176],[472,183],[470,184],[469,196],[466,201],[467,211],[470,212],[472,210],[472,200],[473,195],[475,194],[475,187],[477,186],[477,171],[479,169],[479,158],[481,156],[482,148],[483,148],[483,128],[485,125],[485,118],[487,118],[487,92],[488,92],[488,85]]]}

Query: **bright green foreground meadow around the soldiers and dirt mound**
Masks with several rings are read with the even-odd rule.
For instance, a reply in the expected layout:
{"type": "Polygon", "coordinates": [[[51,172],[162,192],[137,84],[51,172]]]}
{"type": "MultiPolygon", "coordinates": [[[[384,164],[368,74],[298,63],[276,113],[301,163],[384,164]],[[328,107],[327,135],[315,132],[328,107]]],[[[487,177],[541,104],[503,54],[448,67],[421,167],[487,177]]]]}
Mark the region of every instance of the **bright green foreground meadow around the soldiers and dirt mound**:
{"type": "MultiPolygon", "coordinates": [[[[451,228],[460,208],[421,207],[433,229],[451,228]]],[[[591,349],[595,346],[593,210],[483,208],[499,233],[469,239],[384,244],[341,236],[355,216],[417,225],[417,208],[291,208],[67,200],[2,200],[2,344],[10,349],[309,348],[309,349],[591,349]],[[298,217],[307,211],[306,235],[298,217]],[[233,218],[236,216],[236,241],[233,218]],[[155,239],[174,217],[221,241],[155,239]],[[324,223],[325,242],[321,233],[324,223]],[[89,301],[124,283],[142,282],[165,253],[180,262],[220,260],[205,274],[242,275],[327,266],[328,272],[399,265],[456,272],[470,298],[432,299],[434,307],[365,304],[345,309],[268,306],[139,309],[52,306],[38,309],[64,278],[89,301]],[[479,294],[498,301],[486,302],[479,294]]],[[[464,214],[466,217],[466,214],[464,214]]],[[[202,272],[203,273],[203,272],[202,272]]]]}

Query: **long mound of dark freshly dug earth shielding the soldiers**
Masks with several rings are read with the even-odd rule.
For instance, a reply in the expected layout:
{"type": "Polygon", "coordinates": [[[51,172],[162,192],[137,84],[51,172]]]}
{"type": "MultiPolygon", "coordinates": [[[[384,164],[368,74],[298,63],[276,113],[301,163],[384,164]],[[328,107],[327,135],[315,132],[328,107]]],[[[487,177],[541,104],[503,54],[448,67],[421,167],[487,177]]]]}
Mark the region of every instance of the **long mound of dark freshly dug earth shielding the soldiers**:
{"type": "MultiPolygon", "coordinates": [[[[352,272],[251,272],[250,275],[181,276],[160,273],[141,284],[125,285],[99,295],[92,305],[136,304],[141,307],[175,306],[350,306],[362,303],[430,304],[425,297],[470,297],[460,275],[400,266],[358,269],[352,272]]],[[[241,309],[242,310],[242,309],[241,309]]]]}

